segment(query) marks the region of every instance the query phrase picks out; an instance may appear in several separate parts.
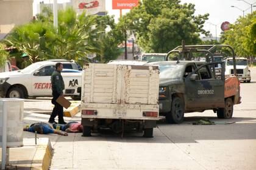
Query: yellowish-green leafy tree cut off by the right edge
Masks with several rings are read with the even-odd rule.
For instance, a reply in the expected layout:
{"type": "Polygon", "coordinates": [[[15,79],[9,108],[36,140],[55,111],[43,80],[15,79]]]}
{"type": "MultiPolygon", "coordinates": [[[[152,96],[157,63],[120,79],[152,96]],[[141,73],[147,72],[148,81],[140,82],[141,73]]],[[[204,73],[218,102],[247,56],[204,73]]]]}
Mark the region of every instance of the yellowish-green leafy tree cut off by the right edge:
{"type": "Polygon", "coordinates": [[[238,56],[255,56],[256,12],[237,19],[230,30],[224,32],[221,41],[232,46],[238,56]]]}

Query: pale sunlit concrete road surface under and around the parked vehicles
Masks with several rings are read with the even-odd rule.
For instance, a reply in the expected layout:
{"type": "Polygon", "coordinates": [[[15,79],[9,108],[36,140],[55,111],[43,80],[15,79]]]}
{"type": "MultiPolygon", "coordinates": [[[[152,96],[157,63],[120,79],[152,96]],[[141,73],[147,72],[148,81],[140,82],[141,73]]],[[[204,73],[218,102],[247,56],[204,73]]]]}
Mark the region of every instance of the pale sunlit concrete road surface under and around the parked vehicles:
{"type": "MultiPolygon", "coordinates": [[[[154,138],[140,133],[121,138],[112,132],[39,135],[48,137],[54,148],[51,169],[256,169],[256,67],[251,73],[252,82],[241,83],[242,103],[228,120],[216,118],[212,110],[185,114],[182,124],[159,121],[154,138]],[[192,124],[202,118],[216,124],[192,124]]],[[[24,124],[47,122],[49,115],[33,113],[31,104],[24,104],[24,124]]],[[[65,118],[70,120],[80,121],[80,115],[65,118]]],[[[24,137],[34,134],[24,132],[24,137]]]]}

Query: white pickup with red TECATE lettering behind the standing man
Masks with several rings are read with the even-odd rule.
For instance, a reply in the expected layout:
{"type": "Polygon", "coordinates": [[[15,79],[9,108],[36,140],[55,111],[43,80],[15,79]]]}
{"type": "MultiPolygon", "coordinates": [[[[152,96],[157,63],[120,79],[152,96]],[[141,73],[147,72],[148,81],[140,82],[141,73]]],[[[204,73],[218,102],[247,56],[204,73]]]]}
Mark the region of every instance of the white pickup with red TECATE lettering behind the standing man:
{"type": "MultiPolygon", "coordinates": [[[[40,61],[23,70],[0,73],[0,97],[27,98],[52,96],[51,75],[55,69],[54,61],[40,61]]],[[[65,62],[62,62],[63,65],[65,62]]],[[[66,62],[65,64],[72,64],[66,62]]],[[[82,72],[63,69],[65,83],[64,95],[80,98],[82,72]]]]}

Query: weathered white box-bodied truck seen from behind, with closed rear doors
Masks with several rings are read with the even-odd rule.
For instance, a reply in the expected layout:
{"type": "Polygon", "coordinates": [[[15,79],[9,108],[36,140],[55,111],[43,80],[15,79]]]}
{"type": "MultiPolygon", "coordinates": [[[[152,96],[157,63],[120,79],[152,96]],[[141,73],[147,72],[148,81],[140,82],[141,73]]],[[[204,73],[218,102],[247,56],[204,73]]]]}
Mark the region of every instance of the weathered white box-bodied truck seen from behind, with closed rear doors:
{"type": "Polygon", "coordinates": [[[108,128],[122,134],[135,129],[152,137],[160,119],[158,66],[87,64],[82,77],[84,136],[92,129],[108,128]]]}

